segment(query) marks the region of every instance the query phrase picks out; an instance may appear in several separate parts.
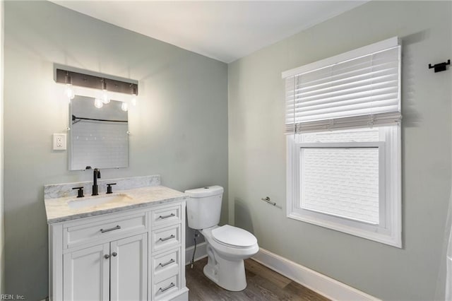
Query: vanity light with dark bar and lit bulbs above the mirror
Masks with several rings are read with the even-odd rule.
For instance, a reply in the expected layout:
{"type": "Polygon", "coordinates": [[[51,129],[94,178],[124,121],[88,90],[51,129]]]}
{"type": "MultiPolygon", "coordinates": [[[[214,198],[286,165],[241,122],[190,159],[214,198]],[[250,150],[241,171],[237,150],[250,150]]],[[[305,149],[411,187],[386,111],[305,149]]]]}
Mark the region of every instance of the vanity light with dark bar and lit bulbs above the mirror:
{"type": "Polygon", "coordinates": [[[94,105],[100,108],[110,100],[119,100],[124,102],[121,105],[124,111],[136,105],[138,81],[130,78],[54,64],[54,81],[64,84],[64,95],[69,101],[76,95],[95,98],[94,105]]]}

